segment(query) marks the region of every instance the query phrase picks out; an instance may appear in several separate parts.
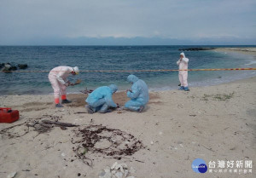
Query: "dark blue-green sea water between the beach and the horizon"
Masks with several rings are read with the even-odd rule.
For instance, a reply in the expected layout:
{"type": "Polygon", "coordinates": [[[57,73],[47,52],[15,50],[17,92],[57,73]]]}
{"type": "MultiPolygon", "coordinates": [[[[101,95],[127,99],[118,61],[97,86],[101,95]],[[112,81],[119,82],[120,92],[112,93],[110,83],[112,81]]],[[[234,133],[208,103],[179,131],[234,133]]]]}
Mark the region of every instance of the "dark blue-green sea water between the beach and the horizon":
{"type": "MultiPolygon", "coordinates": [[[[190,47],[194,46],[0,46],[0,63],[26,63],[25,71],[50,71],[55,66],[79,66],[81,71],[177,69],[176,61],[181,53],[178,49],[190,47]]],[[[256,67],[255,56],[236,52],[185,51],[185,55],[189,58],[189,69],[256,67]]],[[[96,89],[111,83],[117,84],[120,90],[128,89],[129,74],[142,78],[151,90],[178,88],[177,72],[80,72],[69,80],[74,82],[79,78],[82,83],[67,91],[79,93],[85,88],[96,89]]],[[[189,87],[195,87],[255,76],[255,71],[189,72],[188,81],[189,87]]],[[[0,95],[53,92],[47,72],[0,72],[0,81],[0,95]]]]}

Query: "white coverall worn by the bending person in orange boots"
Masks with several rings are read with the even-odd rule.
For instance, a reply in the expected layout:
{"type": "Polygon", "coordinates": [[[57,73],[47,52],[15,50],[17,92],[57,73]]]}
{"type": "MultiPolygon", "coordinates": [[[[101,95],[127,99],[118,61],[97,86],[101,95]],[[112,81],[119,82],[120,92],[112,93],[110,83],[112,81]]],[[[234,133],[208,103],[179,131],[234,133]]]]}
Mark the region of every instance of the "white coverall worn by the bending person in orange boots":
{"type": "MultiPolygon", "coordinates": [[[[66,97],[66,86],[68,82],[67,77],[73,72],[73,67],[70,66],[57,66],[49,72],[49,82],[54,89],[55,99],[59,99],[60,95],[66,97]]],[[[62,98],[63,99],[63,98],[62,98]]]]}

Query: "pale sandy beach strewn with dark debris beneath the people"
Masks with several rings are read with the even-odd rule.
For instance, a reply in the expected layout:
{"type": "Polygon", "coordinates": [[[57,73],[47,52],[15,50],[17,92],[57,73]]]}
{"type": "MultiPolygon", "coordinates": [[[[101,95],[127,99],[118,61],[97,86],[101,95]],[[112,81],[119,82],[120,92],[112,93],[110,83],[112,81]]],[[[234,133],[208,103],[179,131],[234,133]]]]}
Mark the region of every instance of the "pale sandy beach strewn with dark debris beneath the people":
{"type": "MultiPolygon", "coordinates": [[[[250,53],[255,55],[255,51],[250,53]]],[[[136,171],[130,175],[137,178],[255,177],[254,169],[253,173],[247,174],[214,171],[199,174],[191,169],[195,158],[201,158],[207,164],[219,160],[235,163],[252,160],[255,163],[255,89],[256,78],[248,78],[191,88],[189,92],[152,92],[142,113],[113,111],[106,114],[86,113],[84,100],[87,95],[84,94],[68,95],[73,103],[59,109],[55,108],[52,95],[2,95],[0,106],[19,110],[20,119],[15,123],[0,124],[0,177],[16,172],[17,178],[96,178],[102,169],[115,162],[134,168],[136,171]],[[40,132],[35,126],[43,120],[79,126],[53,125],[46,132],[40,132]],[[84,161],[74,151],[78,146],[74,141],[81,139],[76,133],[95,125],[133,135],[134,141],[141,141],[143,146],[131,155],[119,156],[84,148],[84,156],[88,158],[84,161]],[[91,166],[86,164],[88,161],[91,166]]],[[[124,92],[119,92],[113,95],[113,100],[124,105],[127,98],[124,92]]],[[[115,135],[114,139],[119,138],[115,135]]],[[[125,143],[129,145],[129,141],[125,140],[125,143]]],[[[109,146],[108,141],[97,144],[97,148],[109,146]]]]}

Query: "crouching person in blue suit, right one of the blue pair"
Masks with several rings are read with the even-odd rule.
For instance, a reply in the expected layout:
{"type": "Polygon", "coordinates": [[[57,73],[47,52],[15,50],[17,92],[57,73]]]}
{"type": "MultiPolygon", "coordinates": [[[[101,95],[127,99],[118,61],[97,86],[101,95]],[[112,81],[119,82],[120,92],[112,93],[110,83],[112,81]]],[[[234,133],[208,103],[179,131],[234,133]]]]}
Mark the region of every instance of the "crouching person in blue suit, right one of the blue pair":
{"type": "Polygon", "coordinates": [[[129,75],[127,80],[132,83],[132,86],[131,89],[126,90],[127,96],[131,100],[125,103],[125,109],[143,112],[149,100],[148,86],[142,79],[137,78],[135,75],[129,75]]]}

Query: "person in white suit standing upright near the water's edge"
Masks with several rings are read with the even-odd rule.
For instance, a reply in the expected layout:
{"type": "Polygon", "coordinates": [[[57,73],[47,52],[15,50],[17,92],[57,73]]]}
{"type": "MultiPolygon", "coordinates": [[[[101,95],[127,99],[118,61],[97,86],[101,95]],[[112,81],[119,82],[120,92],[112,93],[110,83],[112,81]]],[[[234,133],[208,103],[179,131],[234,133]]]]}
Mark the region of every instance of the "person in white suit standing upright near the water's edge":
{"type": "MultiPolygon", "coordinates": [[[[188,70],[189,59],[186,58],[184,53],[180,54],[180,58],[177,60],[177,65],[179,70],[188,70]]],[[[188,71],[179,71],[178,79],[181,84],[179,90],[189,91],[188,71]]]]}

